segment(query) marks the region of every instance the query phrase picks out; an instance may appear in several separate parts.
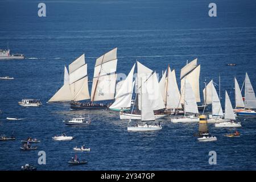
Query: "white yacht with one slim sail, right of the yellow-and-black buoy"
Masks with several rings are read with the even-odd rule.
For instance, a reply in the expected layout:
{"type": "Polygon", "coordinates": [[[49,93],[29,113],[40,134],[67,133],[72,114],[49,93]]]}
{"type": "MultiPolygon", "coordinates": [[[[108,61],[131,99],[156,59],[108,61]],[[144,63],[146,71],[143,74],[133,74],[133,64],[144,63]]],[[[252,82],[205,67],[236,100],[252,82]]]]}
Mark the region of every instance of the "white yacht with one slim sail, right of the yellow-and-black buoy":
{"type": "Polygon", "coordinates": [[[215,127],[241,127],[241,123],[234,122],[236,117],[234,116],[233,107],[229,99],[228,93],[225,91],[225,122],[215,123],[215,127]]]}

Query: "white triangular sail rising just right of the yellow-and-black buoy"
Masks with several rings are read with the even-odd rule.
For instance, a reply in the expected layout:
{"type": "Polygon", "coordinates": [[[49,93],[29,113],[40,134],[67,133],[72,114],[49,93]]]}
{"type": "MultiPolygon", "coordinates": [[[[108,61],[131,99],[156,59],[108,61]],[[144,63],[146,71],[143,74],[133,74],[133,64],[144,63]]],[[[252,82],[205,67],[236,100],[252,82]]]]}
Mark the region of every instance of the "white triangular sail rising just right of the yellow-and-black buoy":
{"type": "Polygon", "coordinates": [[[212,81],[212,115],[215,116],[223,116],[223,111],[220,103],[220,99],[218,98],[217,91],[213,85],[212,81]]]}

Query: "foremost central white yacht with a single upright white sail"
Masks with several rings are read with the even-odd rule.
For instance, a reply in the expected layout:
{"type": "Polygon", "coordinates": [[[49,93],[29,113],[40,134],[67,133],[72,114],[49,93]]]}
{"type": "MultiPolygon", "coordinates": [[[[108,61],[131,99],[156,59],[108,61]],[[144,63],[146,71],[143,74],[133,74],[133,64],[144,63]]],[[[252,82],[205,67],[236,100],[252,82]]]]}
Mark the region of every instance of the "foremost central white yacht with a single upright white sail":
{"type": "MultiPolygon", "coordinates": [[[[150,96],[146,88],[146,83],[141,82],[141,122],[155,121],[154,111],[149,100],[150,96]]],[[[134,107],[133,107],[134,109],[134,107]]],[[[131,118],[127,126],[127,131],[157,131],[162,130],[160,123],[158,125],[149,125],[148,123],[144,125],[129,126],[131,118]]]]}

